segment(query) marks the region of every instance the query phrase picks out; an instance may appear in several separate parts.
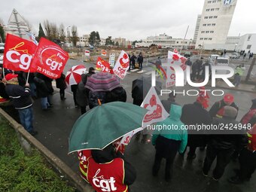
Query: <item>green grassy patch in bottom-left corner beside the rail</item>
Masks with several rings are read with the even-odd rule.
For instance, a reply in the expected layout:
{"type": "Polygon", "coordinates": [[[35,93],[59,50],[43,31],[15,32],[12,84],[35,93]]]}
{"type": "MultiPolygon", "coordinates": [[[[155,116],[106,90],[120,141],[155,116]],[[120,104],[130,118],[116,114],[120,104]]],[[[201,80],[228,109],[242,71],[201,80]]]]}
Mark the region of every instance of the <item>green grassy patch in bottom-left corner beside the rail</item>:
{"type": "Polygon", "coordinates": [[[72,192],[75,188],[62,181],[37,150],[26,157],[14,129],[0,117],[0,191],[72,192]]]}

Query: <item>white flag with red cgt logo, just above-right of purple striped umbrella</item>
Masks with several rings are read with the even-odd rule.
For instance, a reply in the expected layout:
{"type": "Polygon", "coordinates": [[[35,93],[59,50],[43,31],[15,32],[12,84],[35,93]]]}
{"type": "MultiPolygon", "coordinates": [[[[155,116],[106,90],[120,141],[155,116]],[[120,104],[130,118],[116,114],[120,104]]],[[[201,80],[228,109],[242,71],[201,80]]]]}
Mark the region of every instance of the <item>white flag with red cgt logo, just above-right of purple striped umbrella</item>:
{"type": "Polygon", "coordinates": [[[128,54],[122,50],[120,55],[118,56],[117,62],[114,65],[114,74],[117,75],[119,78],[123,79],[126,75],[127,70],[129,69],[129,63],[130,59],[128,54]]]}

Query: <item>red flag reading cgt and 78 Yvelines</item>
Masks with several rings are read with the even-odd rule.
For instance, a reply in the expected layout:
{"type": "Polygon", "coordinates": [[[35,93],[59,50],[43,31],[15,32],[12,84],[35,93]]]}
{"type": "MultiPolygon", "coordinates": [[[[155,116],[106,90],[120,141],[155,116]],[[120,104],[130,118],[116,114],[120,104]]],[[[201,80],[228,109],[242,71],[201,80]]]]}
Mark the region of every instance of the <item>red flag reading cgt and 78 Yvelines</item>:
{"type": "Polygon", "coordinates": [[[68,59],[69,53],[52,41],[41,38],[31,68],[48,78],[56,79],[60,77],[68,59]]]}

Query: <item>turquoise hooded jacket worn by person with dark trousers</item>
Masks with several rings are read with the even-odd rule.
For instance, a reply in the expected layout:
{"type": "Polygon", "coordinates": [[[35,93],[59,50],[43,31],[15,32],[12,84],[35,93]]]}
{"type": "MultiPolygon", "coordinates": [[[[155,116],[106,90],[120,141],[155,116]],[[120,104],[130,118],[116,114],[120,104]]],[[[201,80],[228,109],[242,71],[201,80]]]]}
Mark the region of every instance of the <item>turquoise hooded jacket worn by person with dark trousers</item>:
{"type": "Polygon", "coordinates": [[[158,136],[163,136],[166,139],[173,139],[175,141],[181,141],[178,151],[183,153],[187,146],[187,130],[185,129],[184,123],[180,120],[181,106],[172,104],[169,114],[170,115],[166,120],[157,123],[158,129],[154,131],[152,144],[156,144],[158,136]],[[173,129],[171,129],[172,127],[173,129]]]}

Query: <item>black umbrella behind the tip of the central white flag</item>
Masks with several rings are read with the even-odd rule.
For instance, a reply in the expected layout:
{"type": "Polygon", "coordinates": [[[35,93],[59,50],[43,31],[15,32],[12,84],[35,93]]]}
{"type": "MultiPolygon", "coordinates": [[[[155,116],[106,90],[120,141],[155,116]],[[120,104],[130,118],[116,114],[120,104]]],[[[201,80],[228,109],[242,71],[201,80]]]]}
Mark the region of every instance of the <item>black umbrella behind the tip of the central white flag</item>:
{"type": "MultiPolygon", "coordinates": [[[[140,78],[137,78],[133,81],[133,87],[132,87],[132,96],[133,99],[140,99],[143,100],[145,96],[148,93],[148,90],[151,88],[151,77],[145,77],[142,76],[140,78]]],[[[162,89],[162,82],[159,80],[156,80],[156,86],[155,89],[157,91],[157,94],[160,94],[160,91],[162,89]]]]}

